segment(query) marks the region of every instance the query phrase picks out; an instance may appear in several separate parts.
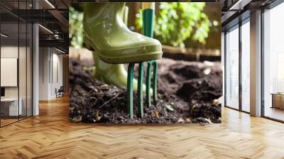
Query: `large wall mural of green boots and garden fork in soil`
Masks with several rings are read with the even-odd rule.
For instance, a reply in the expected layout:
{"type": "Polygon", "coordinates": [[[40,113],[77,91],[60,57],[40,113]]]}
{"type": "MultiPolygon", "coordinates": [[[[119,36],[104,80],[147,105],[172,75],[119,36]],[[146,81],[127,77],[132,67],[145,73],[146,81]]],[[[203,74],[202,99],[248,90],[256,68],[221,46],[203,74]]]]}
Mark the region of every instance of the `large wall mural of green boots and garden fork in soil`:
{"type": "Polygon", "coordinates": [[[218,3],[80,3],[69,14],[71,122],[221,123],[218,3]]]}

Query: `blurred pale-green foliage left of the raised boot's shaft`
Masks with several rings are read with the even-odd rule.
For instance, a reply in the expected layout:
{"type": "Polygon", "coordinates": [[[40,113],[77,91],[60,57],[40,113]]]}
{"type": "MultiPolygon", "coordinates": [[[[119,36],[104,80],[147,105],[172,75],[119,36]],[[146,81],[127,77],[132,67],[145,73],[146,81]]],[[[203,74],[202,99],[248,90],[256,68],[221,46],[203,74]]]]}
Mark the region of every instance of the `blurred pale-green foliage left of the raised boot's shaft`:
{"type": "Polygon", "coordinates": [[[81,48],[83,43],[83,13],[76,11],[72,6],[69,7],[69,38],[71,45],[81,48]]]}

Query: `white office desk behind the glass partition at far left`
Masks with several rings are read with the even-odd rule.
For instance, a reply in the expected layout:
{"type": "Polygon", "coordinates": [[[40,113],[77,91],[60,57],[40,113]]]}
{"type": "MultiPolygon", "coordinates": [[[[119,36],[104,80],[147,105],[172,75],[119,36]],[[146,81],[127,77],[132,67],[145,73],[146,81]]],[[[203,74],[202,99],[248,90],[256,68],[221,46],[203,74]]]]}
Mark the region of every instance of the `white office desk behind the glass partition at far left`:
{"type": "Polygon", "coordinates": [[[1,99],[1,113],[4,116],[18,116],[23,114],[23,100],[20,98],[4,98],[1,99]],[[18,101],[20,102],[18,104],[18,101]]]}

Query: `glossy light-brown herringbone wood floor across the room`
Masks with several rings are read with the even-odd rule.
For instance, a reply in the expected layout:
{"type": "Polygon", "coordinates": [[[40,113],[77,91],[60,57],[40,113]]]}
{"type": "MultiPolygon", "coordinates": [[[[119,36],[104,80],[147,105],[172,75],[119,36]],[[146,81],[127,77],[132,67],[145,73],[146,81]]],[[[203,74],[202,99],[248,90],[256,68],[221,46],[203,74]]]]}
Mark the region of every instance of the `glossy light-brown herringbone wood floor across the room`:
{"type": "Polygon", "coordinates": [[[284,124],[222,112],[208,126],[72,124],[65,97],[0,128],[0,158],[284,158],[284,124]]]}

